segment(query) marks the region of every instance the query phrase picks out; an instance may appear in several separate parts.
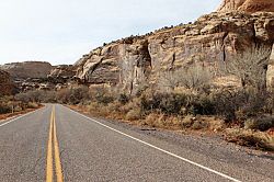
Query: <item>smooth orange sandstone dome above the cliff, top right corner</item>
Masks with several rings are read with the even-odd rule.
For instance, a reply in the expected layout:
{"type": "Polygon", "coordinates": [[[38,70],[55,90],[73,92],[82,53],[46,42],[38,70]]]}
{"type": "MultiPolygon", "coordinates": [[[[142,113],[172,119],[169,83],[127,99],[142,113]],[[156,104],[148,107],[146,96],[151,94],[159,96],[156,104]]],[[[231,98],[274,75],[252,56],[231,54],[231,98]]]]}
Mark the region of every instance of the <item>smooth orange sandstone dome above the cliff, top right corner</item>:
{"type": "Polygon", "coordinates": [[[218,11],[274,12],[273,0],[224,0],[218,11]]]}

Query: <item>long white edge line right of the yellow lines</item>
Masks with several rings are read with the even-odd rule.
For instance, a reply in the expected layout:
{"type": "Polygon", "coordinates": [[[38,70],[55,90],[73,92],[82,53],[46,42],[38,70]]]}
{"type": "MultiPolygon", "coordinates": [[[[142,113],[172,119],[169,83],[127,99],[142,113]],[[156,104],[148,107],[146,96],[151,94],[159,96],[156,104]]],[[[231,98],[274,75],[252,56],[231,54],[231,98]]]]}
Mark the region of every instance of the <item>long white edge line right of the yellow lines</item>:
{"type": "MultiPolygon", "coordinates": [[[[66,106],[66,107],[67,107],[67,106],[66,106]]],[[[69,109],[69,107],[67,107],[67,109],[69,109]]],[[[118,134],[121,134],[121,135],[124,135],[124,136],[126,136],[126,137],[128,137],[128,138],[132,138],[132,139],[136,140],[136,141],[139,141],[139,143],[141,143],[141,144],[144,144],[144,145],[147,145],[147,146],[149,146],[149,147],[151,147],[151,148],[155,148],[155,149],[157,149],[157,150],[159,150],[159,151],[162,151],[162,152],[164,152],[164,153],[167,153],[167,155],[170,155],[170,156],[172,156],[172,157],[174,157],[174,158],[181,159],[181,160],[183,160],[183,161],[185,161],[185,162],[189,162],[189,163],[191,163],[191,164],[193,164],[193,166],[196,166],[196,167],[198,167],[198,168],[202,168],[202,169],[204,169],[204,170],[206,170],[206,171],[213,172],[213,173],[215,173],[215,174],[217,174],[217,175],[220,175],[220,177],[222,177],[222,178],[225,178],[225,179],[228,179],[228,180],[231,180],[231,181],[235,181],[235,182],[241,182],[240,180],[237,180],[237,179],[235,179],[235,178],[232,178],[232,177],[229,177],[229,175],[224,174],[224,173],[221,173],[221,172],[215,171],[215,170],[213,170],[213,169],[210,169],[210,168],[207,168],[207,167],[205,167],[205,166],[203,166],[203,164],[196,163],[196,162],[191,161],[191,160],[189,160],[189,159],[185,159],[185,158],[183,158],[183,157],[181,157],[181,156],[178,156],[178,155],[175,155],[175,153],[172,153],[172,152],[170,152],[170,151],[167,151],[167,150],[164,150],[164,149],[161,149],[161,148],[159,148],[159,147],[156,147],[156,146],[153,146],[153,145],[151,145],[151,144],[149,144],[149,143],[146,143],[146,141],[144,141],[144,140],[140,140],[140,139],[138,139],[138,138],[135,138],[135,137],[133,137],[133,136],[130,136],[130,135],[127,135],[127,134],[125,134],[125,133],[123,133],[123,132],[119,132],[119,130],[117,130],[117,129],[115,129],[115,128],[112,128],[112,127],[110,127],[110,126],[107,126],[107,125],[105,125],[105,124],[102,124],[101,122],[98,122],[98,121],[95,121],[95,120],[93,120],[93,118],[90,118],[90,117],[88,117],[88,116],[85,116],[85,115],[83,115],[83,114],[80,114],[79,112],[76,112],[76,111],[71,110],[71,109],[69,109],[69,110],[72,111],[72,112],[75,112],[75,113],[77,113],[78,115],[81,115],[81,116],[83,116],[83,117],[85,117],[85,118],[92,121],[92,122],[95,122],[96,124],[99,124],[99,125],[101,125],[101,126],[104,126],[104,127],[106,127],[106,128],[109,128],[109,129],[111,129],[111,130],[114,130],[114,132],[116,132],[116,133],[118,133],[118,134]]]]}

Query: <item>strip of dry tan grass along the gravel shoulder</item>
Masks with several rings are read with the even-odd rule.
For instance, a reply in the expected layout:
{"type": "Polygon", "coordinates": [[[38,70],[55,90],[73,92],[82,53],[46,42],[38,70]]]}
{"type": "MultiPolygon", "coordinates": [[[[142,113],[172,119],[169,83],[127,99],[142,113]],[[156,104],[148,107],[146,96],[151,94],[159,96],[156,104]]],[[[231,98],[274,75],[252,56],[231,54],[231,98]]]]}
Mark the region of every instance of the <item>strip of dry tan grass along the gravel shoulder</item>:
{"type": "Polygon", "coordinates": [[[136,103],[128,103],[121,105],[119,103],[112,103],[102,105],[91,103],[89,105],[70,106],[71,109],[81,110],[91,113],[94,116],[119,120],[134,125],[145,125],[149,127],[157,127],[171,130],[185,130],[194,134],[209,134],[225,133],[226,140],[236,143],[241,146],[253,147],[267,151],[274,151],[274,133],[270,129],[267,133],[254,132],[243,128],[227,128],[222,120],[214,116],[170,116],[162,113],[150,113],[141,115],[140,110],[136,103]]]}

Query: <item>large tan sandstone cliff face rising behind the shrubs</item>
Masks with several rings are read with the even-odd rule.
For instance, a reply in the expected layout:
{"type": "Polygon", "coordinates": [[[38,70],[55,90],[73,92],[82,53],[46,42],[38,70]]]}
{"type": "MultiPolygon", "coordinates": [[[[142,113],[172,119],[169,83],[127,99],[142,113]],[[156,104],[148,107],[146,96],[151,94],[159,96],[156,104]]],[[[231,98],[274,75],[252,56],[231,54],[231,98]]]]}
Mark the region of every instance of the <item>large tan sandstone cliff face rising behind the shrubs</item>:
{"type": "MultiPolygon", "coordinates": [[[[232,61],[231,55],[243,54],[254,46],[271,49],[273,42],[273,12],[214,12],[193,24],[99,47],[75,64],[76,76],[92,84],[119,84],[129,92],[144,83],[158,82],[163,72],[172,75],[174,70],[195,65],[220,78],[221,69],[232,61]]],[[[269,59],[264,60],[262,70],[269,59]]]]}

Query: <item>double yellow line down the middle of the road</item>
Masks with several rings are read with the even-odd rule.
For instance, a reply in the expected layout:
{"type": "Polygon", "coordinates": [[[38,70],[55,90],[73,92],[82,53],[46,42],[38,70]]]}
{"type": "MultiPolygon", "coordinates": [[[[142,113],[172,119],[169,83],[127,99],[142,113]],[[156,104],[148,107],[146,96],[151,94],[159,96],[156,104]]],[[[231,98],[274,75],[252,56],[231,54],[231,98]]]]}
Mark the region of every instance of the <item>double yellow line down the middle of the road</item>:
{"type": "Polygon", "coordinates": [[[58,140],[57,140],[57,135],[56,135],[55,106],[53,106],[53,110],[52,110],[48,144],[47,144],[46,182],[54,181],[54,164],[53,164],[54,159],[55,159],[56,180],[57,182],[62,182],[64,177],[61,172],[61,160],[59,156],[59,147],[58,147],[58,140]]]}

